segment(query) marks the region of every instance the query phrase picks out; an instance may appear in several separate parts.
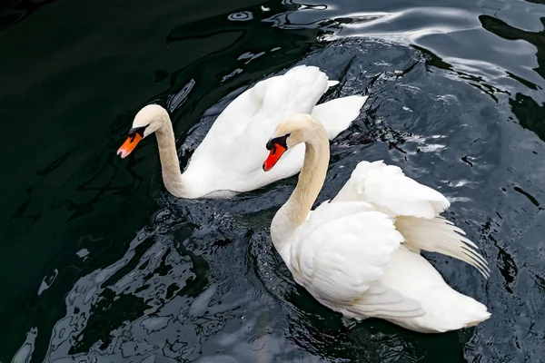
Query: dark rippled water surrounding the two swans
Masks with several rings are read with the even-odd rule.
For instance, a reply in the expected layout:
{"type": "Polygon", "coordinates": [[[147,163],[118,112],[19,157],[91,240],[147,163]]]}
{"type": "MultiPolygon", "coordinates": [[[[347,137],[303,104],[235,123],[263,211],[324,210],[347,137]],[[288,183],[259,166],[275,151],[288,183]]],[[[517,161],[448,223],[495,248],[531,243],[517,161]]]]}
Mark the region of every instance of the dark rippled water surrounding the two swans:
{"type": "Polygon", "coordinates": [[[545,4],[262,4],[0,6],[0,361],[542,361],[545,4]],[[443,192],[491,278],[427,257],[491,319],[433,336],[345,329],[272,249],[295,178],[183,201],[163,189],[153,138],[115,156],[134,113],[158,102],[185,165],[243,87],[303,63],[342,81],[326,98],[370,95],[332,144],[319,201],[363,159],[443,192]]]}

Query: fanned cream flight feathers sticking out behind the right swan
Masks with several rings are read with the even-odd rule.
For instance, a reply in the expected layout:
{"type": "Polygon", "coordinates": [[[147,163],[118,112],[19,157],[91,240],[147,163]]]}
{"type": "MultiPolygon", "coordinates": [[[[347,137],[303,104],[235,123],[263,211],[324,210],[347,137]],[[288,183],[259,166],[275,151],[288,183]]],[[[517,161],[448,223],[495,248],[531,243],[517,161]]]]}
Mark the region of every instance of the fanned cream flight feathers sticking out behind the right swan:
{"type": "Polygon", "coordinates": [[[414,217],[399,217],[395,226],[405,238],[403,243],[408,248],[442,253],[455,259],[469,263],[481,272],[485,278],[490,277],[488,263],[478,252],[475,243],[464,237],[460,228],[442,217],[425,220],[414,217]]]}

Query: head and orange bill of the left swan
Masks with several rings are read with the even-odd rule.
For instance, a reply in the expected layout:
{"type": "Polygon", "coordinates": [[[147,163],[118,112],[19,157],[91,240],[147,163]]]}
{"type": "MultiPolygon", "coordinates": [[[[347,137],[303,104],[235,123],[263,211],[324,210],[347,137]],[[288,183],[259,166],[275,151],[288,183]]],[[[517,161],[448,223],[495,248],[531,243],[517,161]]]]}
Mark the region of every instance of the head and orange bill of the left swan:
{"type": "Polygon", "coordinates": [[[122,158],[134,151],[142,139],[156,132],[169,120],[168,113],[158,104],[148,104],[134,116],[133,127],[128,132],[127,140],[117,150],[122,158]]]}

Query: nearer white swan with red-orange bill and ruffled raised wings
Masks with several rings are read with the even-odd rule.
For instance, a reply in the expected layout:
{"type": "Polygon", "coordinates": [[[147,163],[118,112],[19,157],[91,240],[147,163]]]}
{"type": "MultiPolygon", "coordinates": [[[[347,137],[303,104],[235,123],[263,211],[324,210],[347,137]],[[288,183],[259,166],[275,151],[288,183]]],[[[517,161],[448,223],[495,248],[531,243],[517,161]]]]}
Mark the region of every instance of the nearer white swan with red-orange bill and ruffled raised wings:
{"type": "Polygon", "coordinates": [[[490,318],[483,304],[451,289],[421,257],[420,250],[440,252],[489,276],[477,246],[439,215],[450,204],[440,192],[396,166],[360,162],[337,197],[311,212],[330,155],[321,123],[308,114],[282,121],[267,142],[263,170],[301,143],[299,182],[271,224],[272,243],[297,283],[348,319],[381,318],[431,333],[490,318]]]}

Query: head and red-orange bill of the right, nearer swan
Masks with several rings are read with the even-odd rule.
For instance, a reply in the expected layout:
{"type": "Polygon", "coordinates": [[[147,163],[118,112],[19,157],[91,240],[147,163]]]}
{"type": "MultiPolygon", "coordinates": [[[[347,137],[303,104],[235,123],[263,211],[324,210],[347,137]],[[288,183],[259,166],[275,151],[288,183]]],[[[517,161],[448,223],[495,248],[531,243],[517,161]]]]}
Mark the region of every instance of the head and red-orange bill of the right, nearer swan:
{"type": "Polygon", "coordinates": [[[269,172],[283,153],[293,146],[312,140],[318,130],[325,132],[322,123],[310,114],[298,113],[282,120],[266,144],[270,152],[267,160],[263,162],[263,171],[269,172]]]}

